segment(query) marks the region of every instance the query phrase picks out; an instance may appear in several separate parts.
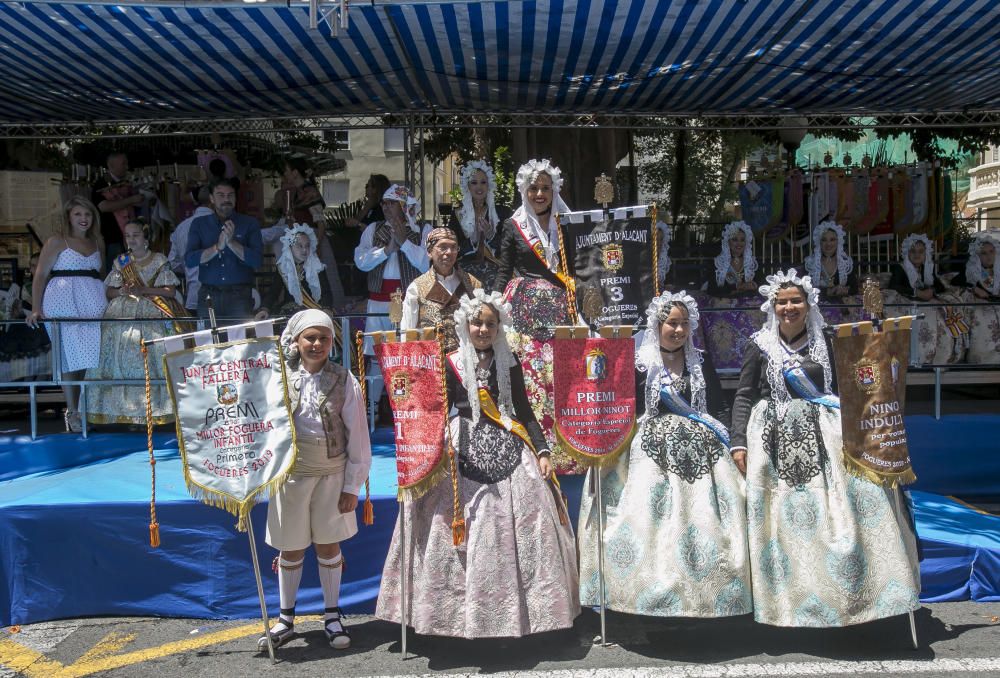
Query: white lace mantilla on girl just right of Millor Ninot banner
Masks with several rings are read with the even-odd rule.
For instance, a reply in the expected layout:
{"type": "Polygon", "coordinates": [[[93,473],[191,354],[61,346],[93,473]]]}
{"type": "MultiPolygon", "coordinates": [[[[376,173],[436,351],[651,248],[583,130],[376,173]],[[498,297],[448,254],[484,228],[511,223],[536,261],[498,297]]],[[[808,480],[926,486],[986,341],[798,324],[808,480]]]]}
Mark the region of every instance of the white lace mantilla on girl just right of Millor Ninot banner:
{"type": "Polygon", "coordinates": [[[653,299],[646,308],[646,331],[642,344],[635,354],[635,366],[640,372],[646,373],[646,416],[655,417],[660,405],[660,374],[663,372],[663,358],[660,356],[660,326],[670,315],[670,309],[675,303],[683,304],[687,309],[688,330],[684,342],[684,364],[691,380],[691,405],[699,412],[707,412],[705,393],[705,375],[701,369],[702,356],[694,346],[694,333],[698,329],[698,302],[687,292],[681,290],[676,294],[664,292],[653,299]]]}

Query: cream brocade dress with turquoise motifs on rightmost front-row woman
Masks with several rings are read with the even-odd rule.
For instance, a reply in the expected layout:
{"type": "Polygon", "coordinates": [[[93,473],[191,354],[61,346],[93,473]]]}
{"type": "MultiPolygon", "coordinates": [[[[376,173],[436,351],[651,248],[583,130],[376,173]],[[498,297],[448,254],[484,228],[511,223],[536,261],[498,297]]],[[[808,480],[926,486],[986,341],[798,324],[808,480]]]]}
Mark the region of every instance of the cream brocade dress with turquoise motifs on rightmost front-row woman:
{"type": "Polygon", "coordinates": [[[747,344],[733,405],[732,444],[747,449],[747,521],[753,609],[775,626],[847,626],[919,607],[916,538],[895,490],[847,473],[840,409],[824,392],[808,344],[779,374],[747,344]],[[785,410],[783,413],[780,410],[785,410]]]}

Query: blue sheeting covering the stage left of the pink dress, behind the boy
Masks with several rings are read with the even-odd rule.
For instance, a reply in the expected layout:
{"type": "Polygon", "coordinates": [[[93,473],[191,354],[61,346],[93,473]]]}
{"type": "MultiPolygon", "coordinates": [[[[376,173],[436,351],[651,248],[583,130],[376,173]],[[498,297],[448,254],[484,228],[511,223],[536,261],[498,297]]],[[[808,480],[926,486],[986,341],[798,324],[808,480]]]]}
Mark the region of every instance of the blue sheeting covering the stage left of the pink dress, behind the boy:
{"type": "MultiPolygon", "coordinates": [[[[60,437],[54,437],[59,440],[60,437]]],[[[396,521],[391,431],[373,440],[375,525],[344,544],[341,605],[375,609],[396,521]]],[[[249,540],[225,511],[192,500],[176,450],[156,453],[160,548],[149,546],[148,453],[0,483],[0,626],[95,615],[247,618],[260,614],[249,540]]],[[[571,518],[582,478],[568,478],[571,518]]],[[[251,514],[269,609],[278,607],[264,543],[266,505],[251,514]]],[[[323,596],[312,551],[298,610],[319,612],[323,596]]]]}

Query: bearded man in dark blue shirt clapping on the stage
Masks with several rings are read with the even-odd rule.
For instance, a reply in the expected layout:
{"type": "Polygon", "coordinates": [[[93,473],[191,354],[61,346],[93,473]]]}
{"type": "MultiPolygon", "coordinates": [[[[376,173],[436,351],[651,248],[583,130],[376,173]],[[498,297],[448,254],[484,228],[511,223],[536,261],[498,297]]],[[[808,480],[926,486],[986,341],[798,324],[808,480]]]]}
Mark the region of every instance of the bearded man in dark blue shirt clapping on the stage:
{"type": "Polygon", "coordinates": [[[184,262],[198,267],[198,315],[208,316],[206,299],[222,318],[249,320],[253,315],[254,273],[263,259],[260,224],[237,214],[236,185],[232,179],[209,184],[212,214],[191,222],[184,262]]]}

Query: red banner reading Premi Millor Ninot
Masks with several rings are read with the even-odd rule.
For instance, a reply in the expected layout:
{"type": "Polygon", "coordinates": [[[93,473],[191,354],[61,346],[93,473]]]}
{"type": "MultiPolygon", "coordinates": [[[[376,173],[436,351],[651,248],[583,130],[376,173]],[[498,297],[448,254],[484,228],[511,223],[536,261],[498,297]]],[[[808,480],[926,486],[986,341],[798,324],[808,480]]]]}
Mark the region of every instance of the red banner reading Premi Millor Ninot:
{"type": "Polygon", "coordinates": [[[582,463],[604,466],[628,449],[635,429],[635,342],[555,339],[555,430],[582,463]]]}

